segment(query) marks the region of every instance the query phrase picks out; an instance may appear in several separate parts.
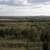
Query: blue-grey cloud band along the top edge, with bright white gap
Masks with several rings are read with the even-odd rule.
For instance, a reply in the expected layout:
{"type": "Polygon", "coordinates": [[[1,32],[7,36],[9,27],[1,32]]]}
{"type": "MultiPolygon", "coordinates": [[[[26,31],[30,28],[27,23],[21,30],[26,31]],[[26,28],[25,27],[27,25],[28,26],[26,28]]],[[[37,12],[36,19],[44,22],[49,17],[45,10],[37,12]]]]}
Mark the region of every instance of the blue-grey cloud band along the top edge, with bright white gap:
{"type": "Polygon", "coordinates": [[[50,0],[0,0],[1,4],[16,5],[16,6],[43,4],[44,2],[50,2],[50,0]]]}

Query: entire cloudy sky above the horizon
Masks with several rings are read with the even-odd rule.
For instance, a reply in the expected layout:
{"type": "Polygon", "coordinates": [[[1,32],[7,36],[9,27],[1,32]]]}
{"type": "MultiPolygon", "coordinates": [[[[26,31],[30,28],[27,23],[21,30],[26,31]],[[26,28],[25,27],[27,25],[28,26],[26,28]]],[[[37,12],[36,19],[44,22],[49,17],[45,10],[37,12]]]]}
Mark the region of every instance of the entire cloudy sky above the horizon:
{"type": "Polygon", "coordinates": [[[50,0],[0,0],[0,16],[50,16],[50,0]]]}

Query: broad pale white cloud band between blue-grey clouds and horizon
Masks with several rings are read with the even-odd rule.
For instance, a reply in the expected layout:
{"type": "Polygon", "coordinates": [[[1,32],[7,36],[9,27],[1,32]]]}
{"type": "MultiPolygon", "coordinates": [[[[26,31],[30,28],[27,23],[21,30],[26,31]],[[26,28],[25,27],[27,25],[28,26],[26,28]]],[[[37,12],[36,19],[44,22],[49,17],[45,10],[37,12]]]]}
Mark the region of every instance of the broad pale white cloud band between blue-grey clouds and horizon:
{"type": "Polygon", "coordinates": [[[50,16],[50,4],[40,4],[33,6],[16,7],[2,5],[2,9],[0,9],[0,16],[50,16]]]}

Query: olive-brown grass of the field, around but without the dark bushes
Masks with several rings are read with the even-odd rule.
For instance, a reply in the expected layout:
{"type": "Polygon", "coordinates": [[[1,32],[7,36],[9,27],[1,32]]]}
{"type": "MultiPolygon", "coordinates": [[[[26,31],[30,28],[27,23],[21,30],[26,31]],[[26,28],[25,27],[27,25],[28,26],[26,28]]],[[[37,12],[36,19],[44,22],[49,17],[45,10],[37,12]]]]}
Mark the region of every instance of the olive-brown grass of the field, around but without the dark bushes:
{"type": "MultiPolygon", "coordinates": [[[[45,21],[41,21],[41,22],[0,22],[0,29],[5,30],[6,28],[10,29],[10,28],[14,28],[16,30],[16,32],[20,33],[23,31],[27,31],[29,32],[31,30],[31,32],[29,33],[33,33],[33,38],[34,41],[30,42],[30,40],[28,40],[25,35],[25,38],[23,39],[17,39],[16,37],[14,38],[14,36],[5,36],[4,38],[0,37],[0,50],[40,50],[40,47],[42,48],[42,44],[40,43],[40,35],[41,32],[44,31],[43,33],[46,33],[46,31],[48,30],[48,27],[50,25],[50,21],[45,22],[45,21]],[[29,43],[30,42],[30,43],[29,43]],[[32,46],[32,47],[31,47],[32,46]]],[[[25,32],[25,34],[27,33],[25,32]]],[[[1,32],[0,32],[1,33],[1,32]]],[[[31,35],[31,34],[30,34],[31,35]]],[[[29,37],[29,36],[28,36],[29,37]]]]}

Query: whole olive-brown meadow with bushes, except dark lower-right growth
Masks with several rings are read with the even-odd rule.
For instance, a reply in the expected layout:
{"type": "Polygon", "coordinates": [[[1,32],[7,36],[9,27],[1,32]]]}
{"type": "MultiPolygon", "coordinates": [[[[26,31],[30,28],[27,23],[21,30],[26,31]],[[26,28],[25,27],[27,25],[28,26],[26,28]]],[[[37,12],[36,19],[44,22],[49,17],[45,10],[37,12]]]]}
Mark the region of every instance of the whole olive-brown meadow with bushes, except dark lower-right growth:
{"type": "MultiPolygon", "coordinates": [[[[0,50],[41,50],[41,33],[50,21],[0,21],[0,50]]],[[[50,33],[50,32],[49,32],[50,33]]]]}

